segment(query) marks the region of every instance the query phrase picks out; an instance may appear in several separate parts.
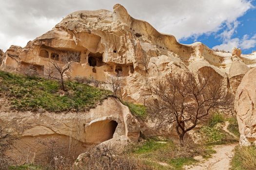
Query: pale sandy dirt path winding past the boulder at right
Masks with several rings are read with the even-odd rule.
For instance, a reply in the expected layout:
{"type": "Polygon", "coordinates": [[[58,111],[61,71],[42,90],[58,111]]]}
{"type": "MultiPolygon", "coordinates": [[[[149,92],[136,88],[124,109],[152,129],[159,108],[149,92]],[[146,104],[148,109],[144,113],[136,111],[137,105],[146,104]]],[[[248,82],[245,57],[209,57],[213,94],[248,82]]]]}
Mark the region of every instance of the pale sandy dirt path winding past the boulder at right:
{"type": "MultiPolygon", "coordinates": [[[[230,135],[237,138],[232,132],[230,132],[227,127],[229,122],[226,121],[223,130],[230,135]]],[[[230,160],[234,155],[234,148],[237,144],[228,145],[217,145],[214,147],[216,153],[212,154],[212,157],[207,160],[200,160],[201,163],[192,166],[184,167],[185,170],[229,170],[230,160]]]]}

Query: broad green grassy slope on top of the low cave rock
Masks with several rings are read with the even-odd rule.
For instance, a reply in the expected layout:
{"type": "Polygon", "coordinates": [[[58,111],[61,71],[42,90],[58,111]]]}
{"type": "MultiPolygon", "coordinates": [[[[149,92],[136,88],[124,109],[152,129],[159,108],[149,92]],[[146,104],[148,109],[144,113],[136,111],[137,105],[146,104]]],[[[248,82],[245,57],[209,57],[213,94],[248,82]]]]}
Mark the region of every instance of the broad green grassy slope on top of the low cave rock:
{"type": "Polygon", "coordinates": [[[61,92],[57,81],[0,71],[0,93],[17,110],[84,111],[112,94],[77,82],[67,81],[65,85],[68,91],[61,92]]]}

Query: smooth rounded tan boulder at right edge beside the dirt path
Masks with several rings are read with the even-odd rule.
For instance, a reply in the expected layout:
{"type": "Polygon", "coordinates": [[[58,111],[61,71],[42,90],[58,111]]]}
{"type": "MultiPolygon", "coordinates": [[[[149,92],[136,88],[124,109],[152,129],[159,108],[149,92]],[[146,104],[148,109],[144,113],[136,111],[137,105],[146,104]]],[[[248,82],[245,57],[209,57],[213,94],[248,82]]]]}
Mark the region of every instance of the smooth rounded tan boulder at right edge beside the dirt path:
{"type": "Polygon", "coordinates": [[[235,109],[240,144],[256,144],[256,68],[248,71],[236,90],[235,109]]]}

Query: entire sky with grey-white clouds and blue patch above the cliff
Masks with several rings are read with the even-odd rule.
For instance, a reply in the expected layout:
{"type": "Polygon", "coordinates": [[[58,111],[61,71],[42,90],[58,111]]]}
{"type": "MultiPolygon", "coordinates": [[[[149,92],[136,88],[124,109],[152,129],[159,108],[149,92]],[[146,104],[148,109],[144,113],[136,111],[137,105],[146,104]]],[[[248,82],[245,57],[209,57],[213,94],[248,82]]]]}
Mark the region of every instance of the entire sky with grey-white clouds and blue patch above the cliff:
{"type": "Polygon", "coordinates": [[[71,12],[112,11],[116,3],[181,43],[256,50],[256,0],[0,0],[0,49],[25,46],[71,12]]]}

